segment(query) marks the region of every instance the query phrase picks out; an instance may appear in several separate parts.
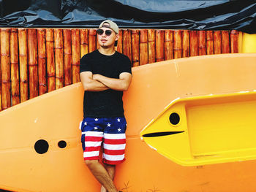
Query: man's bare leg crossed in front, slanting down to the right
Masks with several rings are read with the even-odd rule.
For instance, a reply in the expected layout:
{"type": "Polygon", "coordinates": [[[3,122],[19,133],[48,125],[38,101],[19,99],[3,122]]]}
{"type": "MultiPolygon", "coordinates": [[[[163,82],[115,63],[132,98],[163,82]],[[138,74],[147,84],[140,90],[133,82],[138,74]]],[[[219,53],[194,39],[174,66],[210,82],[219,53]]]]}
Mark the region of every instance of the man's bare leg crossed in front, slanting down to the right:
{"type": "Polygon", "coordinates": [[[118,192],[110,174],[108,174],[102,164],[99,164],[98,160],[86,160],[86,165],[91,170],[91,173],[94,174],[94,177],[96,177],[99,183],[101,183],[108,192],[118,192]]]}

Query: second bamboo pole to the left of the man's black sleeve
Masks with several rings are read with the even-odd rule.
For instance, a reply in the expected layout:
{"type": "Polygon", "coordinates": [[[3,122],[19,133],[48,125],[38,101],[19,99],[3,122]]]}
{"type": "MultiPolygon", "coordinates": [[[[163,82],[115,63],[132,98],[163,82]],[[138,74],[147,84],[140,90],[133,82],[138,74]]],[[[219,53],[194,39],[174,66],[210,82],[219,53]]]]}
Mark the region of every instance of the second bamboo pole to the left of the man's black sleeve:
{"type": "Polygon", "coordinates": [[[71,30],[63,30],[64,39],[64,85],[72,84],[72,50],[71,50],[71,30]]]}

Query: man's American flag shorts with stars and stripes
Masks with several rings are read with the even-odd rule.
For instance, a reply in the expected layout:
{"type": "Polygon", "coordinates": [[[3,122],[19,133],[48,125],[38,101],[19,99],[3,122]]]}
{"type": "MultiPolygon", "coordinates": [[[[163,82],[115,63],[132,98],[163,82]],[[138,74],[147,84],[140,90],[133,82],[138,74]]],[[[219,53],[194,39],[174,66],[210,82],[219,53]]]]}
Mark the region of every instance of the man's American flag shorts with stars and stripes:
{"type": "Polygon", "coordinates": [[[103,163],[115,165],[125,160],[125,118],[84,118],[80,129],[84,160],[99,160],[101,146],[103,163]]]}

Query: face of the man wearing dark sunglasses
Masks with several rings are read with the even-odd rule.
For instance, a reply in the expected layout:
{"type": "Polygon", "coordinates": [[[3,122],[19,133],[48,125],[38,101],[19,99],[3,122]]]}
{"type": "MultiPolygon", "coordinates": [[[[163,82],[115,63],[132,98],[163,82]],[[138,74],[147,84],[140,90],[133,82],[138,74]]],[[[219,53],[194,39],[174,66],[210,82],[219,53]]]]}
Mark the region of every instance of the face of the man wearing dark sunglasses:
{"type": "Polygon", "coordinates": [[[97,34],[98,43],[101,47],[111,47],[118,40],[118,34],[116,34],[115,31],[113,31],[111,28],[103,26],[99,29],[102,29],[104,31],[101,35],[97,34]],[[110,35],[108,35],[109,31],[111,31],[110,35]]]}

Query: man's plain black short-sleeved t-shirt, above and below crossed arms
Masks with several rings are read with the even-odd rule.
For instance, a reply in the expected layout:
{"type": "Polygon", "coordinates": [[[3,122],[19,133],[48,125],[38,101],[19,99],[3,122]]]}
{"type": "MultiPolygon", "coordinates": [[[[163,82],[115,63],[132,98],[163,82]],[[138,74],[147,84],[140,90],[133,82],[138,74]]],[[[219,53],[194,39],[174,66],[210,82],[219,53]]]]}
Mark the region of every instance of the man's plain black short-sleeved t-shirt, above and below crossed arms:
{"type": "MultiPolygon", "coordinates": [[[[122,72],[131,71],[131,62],[126,55],[114,53],[103,55],[99,50],[83,55],[80,59],[80,72],[102,74],[105,77],[119,78],[122,72]]],[[[85,91],[83,96],[83,116],[91,118],[124,117],[123,91],[85,91]]]]}

